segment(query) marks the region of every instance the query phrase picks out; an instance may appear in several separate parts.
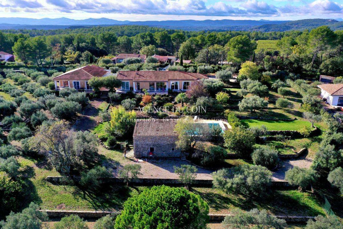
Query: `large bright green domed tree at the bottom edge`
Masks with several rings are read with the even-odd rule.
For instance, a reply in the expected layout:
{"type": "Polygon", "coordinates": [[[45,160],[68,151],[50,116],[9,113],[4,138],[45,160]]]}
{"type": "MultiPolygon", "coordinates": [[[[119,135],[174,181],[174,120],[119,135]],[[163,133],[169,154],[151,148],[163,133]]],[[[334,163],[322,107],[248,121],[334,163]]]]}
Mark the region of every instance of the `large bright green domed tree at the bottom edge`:
{"type": "Polygon", "coordinates": [[[154,186],[124,203],[115,228],[206,228],[208,213],[199,195],[185,188],[154,186]]]}

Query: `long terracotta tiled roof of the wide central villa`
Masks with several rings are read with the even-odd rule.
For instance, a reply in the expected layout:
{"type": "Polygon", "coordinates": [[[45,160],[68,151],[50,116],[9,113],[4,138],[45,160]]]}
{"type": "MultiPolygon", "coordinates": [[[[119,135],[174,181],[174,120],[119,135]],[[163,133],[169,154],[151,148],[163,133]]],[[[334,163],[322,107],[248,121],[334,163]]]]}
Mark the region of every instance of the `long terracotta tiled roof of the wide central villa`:
{"type": "Polygon", "coordinates": [[[168,80],[199,80],[208,77],[200,73],[184,71],[118,71],[117,79],[141,82],[167,82],[168,80]]]}

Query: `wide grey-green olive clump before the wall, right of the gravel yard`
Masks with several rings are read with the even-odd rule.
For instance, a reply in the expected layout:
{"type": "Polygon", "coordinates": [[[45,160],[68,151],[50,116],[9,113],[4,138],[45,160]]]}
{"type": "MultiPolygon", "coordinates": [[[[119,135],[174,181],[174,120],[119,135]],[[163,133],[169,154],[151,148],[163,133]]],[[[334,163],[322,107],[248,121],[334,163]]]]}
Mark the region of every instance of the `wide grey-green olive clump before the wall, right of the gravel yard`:
{"type": "Polygon", "coordinates": [[[213,187],[225,193],[240,193],[251,197],[267,195],[272,173],[261,165],[239,165],[233,170],[221,169],[212,173],[213,187]]]}

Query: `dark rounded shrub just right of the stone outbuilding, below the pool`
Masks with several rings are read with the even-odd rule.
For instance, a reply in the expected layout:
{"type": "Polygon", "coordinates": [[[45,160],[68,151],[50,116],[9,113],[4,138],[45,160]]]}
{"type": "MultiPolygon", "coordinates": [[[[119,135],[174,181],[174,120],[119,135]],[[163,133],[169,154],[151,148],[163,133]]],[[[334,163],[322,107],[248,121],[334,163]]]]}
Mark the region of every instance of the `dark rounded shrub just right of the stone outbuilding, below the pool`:
{"type": "Polygon", "coordinates": [[[216,166],[225,160],[226,150],[220,146],[210,146],[202,155],[201,165],[206,167],[216,166]]]}

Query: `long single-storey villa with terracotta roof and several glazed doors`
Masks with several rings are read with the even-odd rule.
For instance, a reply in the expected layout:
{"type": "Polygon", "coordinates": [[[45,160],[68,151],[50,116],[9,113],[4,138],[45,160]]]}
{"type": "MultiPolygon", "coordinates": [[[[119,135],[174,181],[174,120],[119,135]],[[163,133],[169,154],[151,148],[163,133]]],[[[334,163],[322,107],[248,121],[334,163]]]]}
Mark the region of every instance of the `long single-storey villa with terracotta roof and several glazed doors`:
{"type": "Polygon", "coordinates": [[[143,88],[155,92],[188,90],[188,87],[200,79],[208,79],[204,74],[184,71],[118,71],[117,79],[121,80],[120,91],[133,90],[140,92],[143,88]]]}

